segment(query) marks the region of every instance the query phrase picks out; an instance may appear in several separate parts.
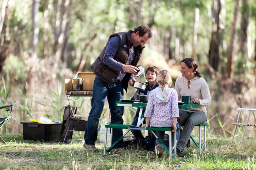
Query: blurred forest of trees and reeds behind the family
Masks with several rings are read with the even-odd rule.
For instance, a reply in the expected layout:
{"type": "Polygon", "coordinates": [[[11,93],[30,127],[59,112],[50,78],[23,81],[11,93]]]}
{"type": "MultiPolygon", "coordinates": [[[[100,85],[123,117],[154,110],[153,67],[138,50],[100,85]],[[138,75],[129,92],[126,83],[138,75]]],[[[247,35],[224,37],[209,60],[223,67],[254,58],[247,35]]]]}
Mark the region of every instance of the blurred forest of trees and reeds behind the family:
{"type": "MultiPolygon", "coordinates": [[[[175,81],[183,58],[199,63],[211,133],[230,135],[236,108],[256,106],[256,0],[1,0],[0,7],[0,105],[16,102],[3,133],[20,133],[30,118],[61,121],[64,79],[91,72],[109,35],[138,25],[153,32],[140,65],[167,69],[175,81]]],[[[89,111],[83,98],[78,114],[89,111]]],[[[125,108],[125,123],[134,113],[125,108]]]]}

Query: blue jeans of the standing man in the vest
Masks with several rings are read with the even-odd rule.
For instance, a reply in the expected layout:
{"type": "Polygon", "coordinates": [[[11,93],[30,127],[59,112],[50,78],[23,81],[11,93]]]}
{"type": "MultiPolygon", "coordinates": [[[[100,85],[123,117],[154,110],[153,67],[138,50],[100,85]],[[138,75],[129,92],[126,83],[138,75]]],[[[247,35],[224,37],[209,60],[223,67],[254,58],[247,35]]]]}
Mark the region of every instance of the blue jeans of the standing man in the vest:
{"type": "MultiPolygon", "coordinates": [[[[123,124],[122,118],[124,107],[116,106],[116,102],[124,99],[123,84],[120,81],[109,86],[103,80],[95,77],[93,84],[93,99],[91,111],[87,120],[86,131],[84,134],[84,142],[87,145],[94,145],[98,135],[99,118],[103,111],[105,100],[108,98],[108,104],[111,114],[110,123],[123,124]]],[[[122,129],[113,129],[112,142],[116,142],[123,135],[122,129]]],[[[117,143],[115,148],[123,147],[123,140],[117,143]]]]}

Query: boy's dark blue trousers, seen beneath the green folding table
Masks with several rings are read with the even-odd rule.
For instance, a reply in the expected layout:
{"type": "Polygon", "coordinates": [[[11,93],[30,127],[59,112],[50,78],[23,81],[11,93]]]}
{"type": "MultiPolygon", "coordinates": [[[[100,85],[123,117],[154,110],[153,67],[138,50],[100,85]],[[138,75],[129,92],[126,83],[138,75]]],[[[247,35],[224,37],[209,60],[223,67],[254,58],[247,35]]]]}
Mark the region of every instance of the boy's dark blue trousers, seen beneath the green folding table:
{"type": "MultiPolygon", "coordinates": [[[[137,125],[138,119],[139,116],[136,116],[132,121],[132,125],[137,125]]],[[[151,133],[151,131],[148,131],[148,142],[143,137],[140,130],[131,130],[131,132],[135,139],[137,139],[137,141],[139,142],[141,148],[148,149],[149,151],[153,151],[155,149],[155,136],[153,135],[153,133],[151,133]]]]}

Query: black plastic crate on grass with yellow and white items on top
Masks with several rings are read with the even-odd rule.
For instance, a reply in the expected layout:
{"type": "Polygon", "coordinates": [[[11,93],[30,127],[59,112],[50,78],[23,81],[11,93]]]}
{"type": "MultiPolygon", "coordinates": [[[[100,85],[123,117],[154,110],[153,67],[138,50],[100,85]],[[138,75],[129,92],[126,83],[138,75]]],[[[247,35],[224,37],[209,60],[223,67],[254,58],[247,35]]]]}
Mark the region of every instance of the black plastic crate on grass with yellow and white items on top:
{"type": "Polygon", "coordinates": [[[60,138],[62,123],[43,124],[20,122],[23,124],[23,139],[34,141],[56,141],[60,138]]]}

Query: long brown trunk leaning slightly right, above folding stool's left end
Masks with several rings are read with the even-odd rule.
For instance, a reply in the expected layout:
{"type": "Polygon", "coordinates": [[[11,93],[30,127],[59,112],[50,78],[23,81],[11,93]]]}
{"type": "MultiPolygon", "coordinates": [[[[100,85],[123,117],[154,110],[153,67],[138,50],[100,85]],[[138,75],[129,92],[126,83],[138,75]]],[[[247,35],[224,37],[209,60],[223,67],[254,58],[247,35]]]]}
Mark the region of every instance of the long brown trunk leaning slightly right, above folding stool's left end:
{"type": "Polygon", "coordinates": [[[234,20],[232,22],[232,31],[230,35],[230,44],[227,51],[227,77],[233,78],[234,75],[234,53],[235,53],[235,43],[237,38],[237,17],[239,10],[239,0],[236,0],[235,9],[234,9],[234,20]]]}

